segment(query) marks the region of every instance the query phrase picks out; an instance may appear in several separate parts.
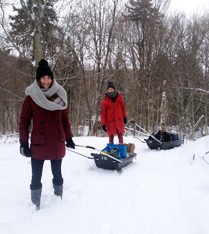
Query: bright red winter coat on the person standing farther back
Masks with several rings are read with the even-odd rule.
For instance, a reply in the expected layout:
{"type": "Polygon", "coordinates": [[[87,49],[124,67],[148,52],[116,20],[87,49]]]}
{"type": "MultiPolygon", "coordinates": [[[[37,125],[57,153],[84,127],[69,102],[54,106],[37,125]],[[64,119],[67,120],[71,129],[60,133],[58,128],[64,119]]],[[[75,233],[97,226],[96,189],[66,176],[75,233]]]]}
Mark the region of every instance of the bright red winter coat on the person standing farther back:
{"type": "Polygon", "coordinates": [[[118,93],[115,102],[107,95],[101,103],[101,125],[107,126],[107,134],[124,133],[124,118],[127,117],[122,95],[118,93]]]}

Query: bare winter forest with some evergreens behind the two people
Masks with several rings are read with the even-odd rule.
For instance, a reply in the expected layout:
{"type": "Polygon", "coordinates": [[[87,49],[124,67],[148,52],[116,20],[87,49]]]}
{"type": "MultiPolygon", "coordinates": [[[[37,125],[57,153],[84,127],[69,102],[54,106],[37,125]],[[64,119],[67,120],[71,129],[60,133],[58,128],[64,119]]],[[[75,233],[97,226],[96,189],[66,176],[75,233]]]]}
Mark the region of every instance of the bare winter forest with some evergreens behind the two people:
{"type": "Polygon", "coordinates": [[[0,135],[18,133],[41,58],[68,93],[75,136],[104,134],[108,81],[147,131],[208,135],[209,14],[168,14],[169,0],[17,2],[0,0],[0,135]]]}

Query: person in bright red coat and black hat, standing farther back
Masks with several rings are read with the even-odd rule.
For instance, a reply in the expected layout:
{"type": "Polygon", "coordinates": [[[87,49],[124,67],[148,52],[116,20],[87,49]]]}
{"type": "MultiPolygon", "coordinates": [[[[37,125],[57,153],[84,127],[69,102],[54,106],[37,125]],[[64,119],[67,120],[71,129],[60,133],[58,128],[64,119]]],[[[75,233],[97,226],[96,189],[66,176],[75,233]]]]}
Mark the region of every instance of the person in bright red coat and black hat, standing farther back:
{"type": "Polygon", "coordinates": [[[114,143],[114,135],[118,135],[119,143],[123,143],[124,124],[127,114],[123,97],[115,90],[112,82],[108,82],[107,93],[101,103],[102,129],[109,135],[109,143],[114,143]]]}

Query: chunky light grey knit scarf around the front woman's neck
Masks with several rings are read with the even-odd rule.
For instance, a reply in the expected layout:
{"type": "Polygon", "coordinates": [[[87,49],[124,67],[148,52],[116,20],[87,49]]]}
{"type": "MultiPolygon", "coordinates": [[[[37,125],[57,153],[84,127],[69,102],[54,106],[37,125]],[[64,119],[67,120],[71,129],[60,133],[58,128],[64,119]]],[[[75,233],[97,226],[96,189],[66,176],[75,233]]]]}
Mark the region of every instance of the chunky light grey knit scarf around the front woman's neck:
{"type": "Polygon", "coordinates": [[[56,82],[56,80],[53,80],[53,85],[49,89],[41,89],[35,80],[25,89],[25,93],[43,109],[55,111],[64,110],[67,108],[67,93],[64,88],[56,82]],[[47,99],[53,96],[55,93],[58,95],[58,97],[54,100],[54,102],[47,99]]]}

